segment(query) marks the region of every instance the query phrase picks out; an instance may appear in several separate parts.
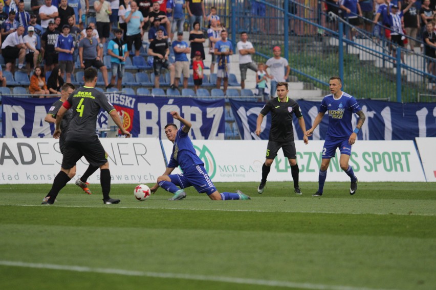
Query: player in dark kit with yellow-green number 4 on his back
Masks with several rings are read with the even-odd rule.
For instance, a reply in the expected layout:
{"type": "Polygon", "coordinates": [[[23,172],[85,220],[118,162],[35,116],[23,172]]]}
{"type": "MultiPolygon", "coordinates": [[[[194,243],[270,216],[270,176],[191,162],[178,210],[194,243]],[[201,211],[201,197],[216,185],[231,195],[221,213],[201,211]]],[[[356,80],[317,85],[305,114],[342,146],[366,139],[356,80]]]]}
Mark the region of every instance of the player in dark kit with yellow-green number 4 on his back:
{"type": "Polygon", "coordinates": [[[63,103],[56,115],[56,129],[53,137],[57,139],[61,134],[60,124],[63,115],[72,108],[73,113],[68,128],[61,170],[56,175],[53,186],[47,195],[50,197],[49,200],[42,202],[42,204],[54,203],[59,191],[70,181],[68,174],[71,168],[82,156],[86,158],[90,165],[100,167],[103,203],[116,204],[120,202],[120,200],[112,199],[109,196],[111,191],[109,162],[107,161],[106,152],[95,134],[96,120],[100,108],[103,108],[111,115],[123,135],[128,138],[130,133],[124,129],[117,111],[107,101],[104,93],[95,89],[97,70],[93,67],[86,68],[83,80],[85,85],[70,94],[68,100],[63,103]]]}

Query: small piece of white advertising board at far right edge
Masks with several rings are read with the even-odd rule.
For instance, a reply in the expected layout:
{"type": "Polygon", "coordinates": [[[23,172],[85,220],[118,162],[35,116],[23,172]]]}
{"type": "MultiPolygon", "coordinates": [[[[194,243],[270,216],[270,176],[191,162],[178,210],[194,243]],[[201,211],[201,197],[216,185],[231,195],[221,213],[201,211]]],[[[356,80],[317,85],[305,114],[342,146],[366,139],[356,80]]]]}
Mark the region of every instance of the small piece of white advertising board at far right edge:
{"type": "Polygon", "coordinates": [[[436,138],[415,138],[427,181],[436,181],[436,138]]]}

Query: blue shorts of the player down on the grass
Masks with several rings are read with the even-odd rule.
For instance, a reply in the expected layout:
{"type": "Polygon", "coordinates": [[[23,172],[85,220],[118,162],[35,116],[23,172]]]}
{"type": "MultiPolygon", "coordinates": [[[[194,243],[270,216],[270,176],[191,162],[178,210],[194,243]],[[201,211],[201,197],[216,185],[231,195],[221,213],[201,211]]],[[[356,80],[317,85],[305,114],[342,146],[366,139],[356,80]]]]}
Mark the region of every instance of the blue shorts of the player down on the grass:
{"type": "Polygon", "coordinates": [[[203,165],[193,166],[182,174],[170,174],[169,178],[180,188],[193,186],[200,194],[206,193],[209,196],[216,191],[203,165]]]}

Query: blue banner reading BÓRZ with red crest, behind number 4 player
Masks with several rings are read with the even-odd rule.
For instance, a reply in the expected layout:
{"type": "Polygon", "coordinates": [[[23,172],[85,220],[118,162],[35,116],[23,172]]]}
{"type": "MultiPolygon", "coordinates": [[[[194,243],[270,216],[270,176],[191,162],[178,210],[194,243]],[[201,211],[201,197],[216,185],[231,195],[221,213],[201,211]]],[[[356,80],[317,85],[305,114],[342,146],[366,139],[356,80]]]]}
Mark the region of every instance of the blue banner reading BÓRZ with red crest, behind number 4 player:
{"type": "MultiPolygon", "coordinates": [[[[192,139],[224,139],[224,99],[200,101],[191,98],[158,98],[133,96],[119,93],[106,94],[117,109],[124,128],[133,137],[159,137],[165,139],[164,127],[180,122],[170,112],[178,111],[192,123],[192,139]]],[[[4,96],[2,132],[4,137],[51,137],[54,125],[44,121],[50,99],[20,99],[4,96]]],[[[97,118],[97,130],[111,125],[111,117],[101,111],[97,118]]]]}

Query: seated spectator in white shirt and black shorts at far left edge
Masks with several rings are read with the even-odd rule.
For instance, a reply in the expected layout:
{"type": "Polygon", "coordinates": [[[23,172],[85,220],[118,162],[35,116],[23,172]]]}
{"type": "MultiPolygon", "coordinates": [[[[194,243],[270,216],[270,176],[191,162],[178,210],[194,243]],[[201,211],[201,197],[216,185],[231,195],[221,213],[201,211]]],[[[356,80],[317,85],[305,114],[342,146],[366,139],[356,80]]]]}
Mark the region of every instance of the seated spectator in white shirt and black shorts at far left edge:
{"type": "Polygon", "coordinates": [[[24,27],[20,26],[9,34],[2,43],[2,55],[5,59],[6,70],[15,71],[15,61],[18,58],[18,69],[23,69],[26,56],[26,44],[23,41],[24,27]]]}

